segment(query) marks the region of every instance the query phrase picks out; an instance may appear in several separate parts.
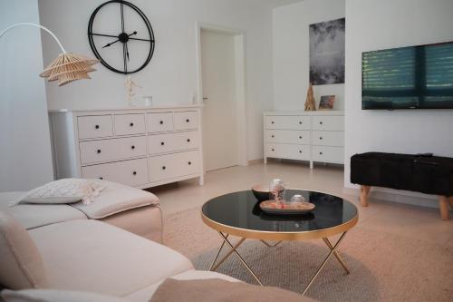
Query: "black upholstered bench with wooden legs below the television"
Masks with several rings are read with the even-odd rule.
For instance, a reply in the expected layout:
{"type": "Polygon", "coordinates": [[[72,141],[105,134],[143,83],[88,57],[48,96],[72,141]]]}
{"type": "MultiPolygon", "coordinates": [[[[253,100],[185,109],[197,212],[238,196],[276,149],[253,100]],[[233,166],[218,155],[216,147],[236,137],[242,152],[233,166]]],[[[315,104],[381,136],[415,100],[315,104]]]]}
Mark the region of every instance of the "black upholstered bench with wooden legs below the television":
{"type": "Polygon", "coordinates": [[[368,152],[351,158],[351,182],[361,185],[361,206],[368,207],[371,186],[439,195],[440,216],[453,208],[453,159],[424,154],[368,152]]]}

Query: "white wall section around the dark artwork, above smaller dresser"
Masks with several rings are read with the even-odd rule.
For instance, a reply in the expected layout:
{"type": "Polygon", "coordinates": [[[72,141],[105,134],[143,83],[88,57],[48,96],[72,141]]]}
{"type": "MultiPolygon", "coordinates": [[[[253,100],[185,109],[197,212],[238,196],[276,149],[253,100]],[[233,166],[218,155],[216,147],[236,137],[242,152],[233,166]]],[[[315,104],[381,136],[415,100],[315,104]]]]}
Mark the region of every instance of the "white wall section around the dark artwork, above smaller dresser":
{"type": "MultiPolygon", "coordinates": [[[[304,110],[310,70],[309,25],[342,17],[344,0],[305,0],[274,9],[275,110],[304,110]]],[[[344,84],[313,86],[313,92],[316,106],[322,95],[333,94],[333,109],[344,108],[344,84]]]]}

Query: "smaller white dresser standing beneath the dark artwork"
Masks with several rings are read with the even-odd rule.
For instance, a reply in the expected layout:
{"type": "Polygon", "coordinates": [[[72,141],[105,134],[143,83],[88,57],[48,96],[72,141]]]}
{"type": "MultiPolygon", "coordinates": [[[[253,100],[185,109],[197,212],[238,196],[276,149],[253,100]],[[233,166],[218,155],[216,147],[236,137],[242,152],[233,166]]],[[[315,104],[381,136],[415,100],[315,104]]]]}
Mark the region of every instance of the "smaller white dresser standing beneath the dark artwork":
{"type": "Polygon", "coordinates": [[[344,163],[344,113],[265,112],[267,158],[344,163]]]}

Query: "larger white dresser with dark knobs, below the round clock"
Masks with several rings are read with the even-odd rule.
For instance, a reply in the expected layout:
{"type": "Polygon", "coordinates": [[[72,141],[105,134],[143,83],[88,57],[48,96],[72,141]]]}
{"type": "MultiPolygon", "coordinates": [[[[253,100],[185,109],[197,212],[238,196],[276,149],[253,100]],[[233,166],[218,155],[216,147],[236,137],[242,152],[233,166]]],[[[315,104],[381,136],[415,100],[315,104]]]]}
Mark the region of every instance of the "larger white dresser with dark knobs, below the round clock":
{"type": "Polygon", "coordinates": [[[198,177],[201,107],[50,112],[57,179],[149,188],[198,177]]]}

